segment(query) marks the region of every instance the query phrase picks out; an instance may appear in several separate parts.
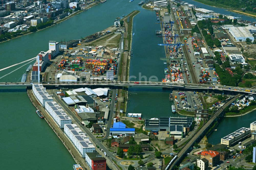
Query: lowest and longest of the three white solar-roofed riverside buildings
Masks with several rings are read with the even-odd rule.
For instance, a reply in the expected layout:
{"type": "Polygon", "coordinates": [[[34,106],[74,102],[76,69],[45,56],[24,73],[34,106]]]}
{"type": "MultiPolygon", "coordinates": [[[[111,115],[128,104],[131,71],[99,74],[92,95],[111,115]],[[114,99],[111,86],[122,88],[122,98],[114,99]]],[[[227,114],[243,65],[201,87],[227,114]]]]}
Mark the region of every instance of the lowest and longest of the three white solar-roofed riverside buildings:
{"type": "Polygon", "coordinates": [[[82,157],[86,157],[86,152],[96,152],[95,146],[89,140],[89,137],[76,124],[65,124],[64,132],[82,157]]]}

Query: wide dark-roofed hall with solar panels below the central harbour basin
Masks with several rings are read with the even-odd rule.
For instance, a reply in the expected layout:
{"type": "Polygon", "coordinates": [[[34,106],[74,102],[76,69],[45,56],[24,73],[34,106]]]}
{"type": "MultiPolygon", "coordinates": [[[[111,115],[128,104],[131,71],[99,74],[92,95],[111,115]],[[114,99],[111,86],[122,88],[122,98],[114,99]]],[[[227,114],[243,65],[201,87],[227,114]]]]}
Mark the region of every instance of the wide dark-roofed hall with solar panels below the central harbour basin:
{"type": "MultiPolygon", "coordinates": [[[[193,119],[191,117],[160,117],[145,120],[146,130],[170,131],[171,125],[182,126],[183,132],[189,131],[193,119]]],[[[178,128],[179,129],[179,128],[178,128]]]]}

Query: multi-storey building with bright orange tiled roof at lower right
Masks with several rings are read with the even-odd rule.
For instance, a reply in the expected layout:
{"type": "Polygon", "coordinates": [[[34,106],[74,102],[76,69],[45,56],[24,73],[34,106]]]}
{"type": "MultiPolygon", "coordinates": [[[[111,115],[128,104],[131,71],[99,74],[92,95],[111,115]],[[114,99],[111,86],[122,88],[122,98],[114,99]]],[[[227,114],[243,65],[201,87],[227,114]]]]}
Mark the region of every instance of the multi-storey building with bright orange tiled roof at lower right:
{"type": "Polygon", "coordinates": [[[210,167],[214,167],[220,162],[220,153],[217,151],[202,151],[201,159],[203,158],[209,161],[210,167]]]}

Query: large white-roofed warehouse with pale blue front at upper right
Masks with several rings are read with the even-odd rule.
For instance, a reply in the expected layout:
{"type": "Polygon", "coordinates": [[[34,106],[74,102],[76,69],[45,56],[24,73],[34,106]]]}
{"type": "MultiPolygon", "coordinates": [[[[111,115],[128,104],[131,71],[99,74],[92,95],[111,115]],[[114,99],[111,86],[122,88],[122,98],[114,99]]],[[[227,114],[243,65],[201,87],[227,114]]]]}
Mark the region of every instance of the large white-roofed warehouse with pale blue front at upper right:
{"type": "Polygon", "coordinates": [[[247,38],[252,42],[254,41],[254,37],[250,31],[244,27],[230,27],[229,33],[236,39],[236,41],[246,41],[247,38]]]}

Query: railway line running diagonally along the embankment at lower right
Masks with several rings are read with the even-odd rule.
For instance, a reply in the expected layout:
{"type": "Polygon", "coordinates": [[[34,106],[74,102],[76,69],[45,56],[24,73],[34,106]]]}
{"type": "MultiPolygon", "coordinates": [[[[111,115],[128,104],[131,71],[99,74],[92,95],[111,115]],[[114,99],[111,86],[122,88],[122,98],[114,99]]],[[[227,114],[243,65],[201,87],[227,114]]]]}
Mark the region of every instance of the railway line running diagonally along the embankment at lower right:
{"type": "Polygon", "coordinates": [[[187,150],[194,144],[194,142],[203,134],[203,132],[206,130],[207,127],[211,125],[211,123],[222,113],[224,108],[229,106],[234,100],[240,98],[242,94],[236,95],[234,98],[232,98],[230,101],[225,103],[209,120],[206,122],[206,124],[199,129],[194,136],[188,141],[188,143],[185,144],[185,146],[180,150],[180,152],[176,155],[178,159],[176,159],[167,169],[173,169],[174,165],[178,163],[179,159],[183,157],[183,155],[186,153],[187,150]]]}

